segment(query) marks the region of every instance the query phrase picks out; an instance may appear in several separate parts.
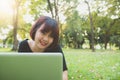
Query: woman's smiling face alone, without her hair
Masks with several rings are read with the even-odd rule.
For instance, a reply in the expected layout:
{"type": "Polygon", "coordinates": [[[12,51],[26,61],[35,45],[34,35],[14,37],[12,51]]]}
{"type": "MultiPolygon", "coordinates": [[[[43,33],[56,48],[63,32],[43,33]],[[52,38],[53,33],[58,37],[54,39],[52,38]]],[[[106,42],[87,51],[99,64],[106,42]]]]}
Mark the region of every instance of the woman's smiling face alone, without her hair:
{"type": "Polygon", "coordinates": [[[51,35],[51,31],[45,32],[44,30],[44,24],[38,28],[35,34],[35,45],[36,47],[45,50],[47,47],[49,47],[52,43],[54,38],[51,35]]]}

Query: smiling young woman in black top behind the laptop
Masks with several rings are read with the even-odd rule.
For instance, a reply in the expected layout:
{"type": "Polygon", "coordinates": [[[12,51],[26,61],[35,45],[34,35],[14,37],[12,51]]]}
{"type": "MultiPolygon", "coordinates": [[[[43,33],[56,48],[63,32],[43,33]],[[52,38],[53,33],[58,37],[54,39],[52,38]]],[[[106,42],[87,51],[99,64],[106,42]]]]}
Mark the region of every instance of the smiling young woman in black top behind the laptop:
{"type": "Polygon", "coordinates": [[[61,52],[63,55],[63,80],[68,80],[67,65],[59,46],[59,27],[56,20],[41,16],[30,30],[31,40],[23,40],[18,52],[61,52]]]}

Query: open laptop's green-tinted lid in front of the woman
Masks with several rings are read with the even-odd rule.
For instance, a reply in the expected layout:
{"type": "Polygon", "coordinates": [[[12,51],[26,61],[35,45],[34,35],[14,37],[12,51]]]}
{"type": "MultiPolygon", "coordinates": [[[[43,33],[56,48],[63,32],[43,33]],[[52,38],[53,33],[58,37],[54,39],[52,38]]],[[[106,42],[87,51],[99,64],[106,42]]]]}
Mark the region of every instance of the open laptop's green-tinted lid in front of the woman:
{"type": "Polygon", "coordinates": [[[61,53],[0,53],[0,80],[62,80],[61,53]]]}

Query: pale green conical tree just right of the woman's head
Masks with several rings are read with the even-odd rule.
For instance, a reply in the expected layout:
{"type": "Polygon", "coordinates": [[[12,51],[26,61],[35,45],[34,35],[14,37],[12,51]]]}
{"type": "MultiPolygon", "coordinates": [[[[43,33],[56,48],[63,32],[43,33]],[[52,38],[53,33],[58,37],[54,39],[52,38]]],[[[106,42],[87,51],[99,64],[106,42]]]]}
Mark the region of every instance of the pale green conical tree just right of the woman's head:
{"type": "Polygon", "coordinates": [[[66,43],[69,47],[82,48],[84,37],[82,27],[82,18],[79,16],[78,11],[73,10],[73,14],[67,18],[66,29],[64,35],[66,43]]]}

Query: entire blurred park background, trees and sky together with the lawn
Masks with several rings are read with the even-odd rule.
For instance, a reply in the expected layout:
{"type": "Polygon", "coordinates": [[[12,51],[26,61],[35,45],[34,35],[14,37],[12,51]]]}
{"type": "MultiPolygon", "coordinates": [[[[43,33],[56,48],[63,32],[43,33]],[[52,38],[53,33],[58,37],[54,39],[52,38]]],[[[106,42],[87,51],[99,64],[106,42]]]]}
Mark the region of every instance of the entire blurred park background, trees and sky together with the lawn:
{"type": "Polygon", "coordinates": [[[0,0],[0,52],[30,39],[40,15],[59,23],[69,80],[120,79],[120,0],[0,0]]]}

